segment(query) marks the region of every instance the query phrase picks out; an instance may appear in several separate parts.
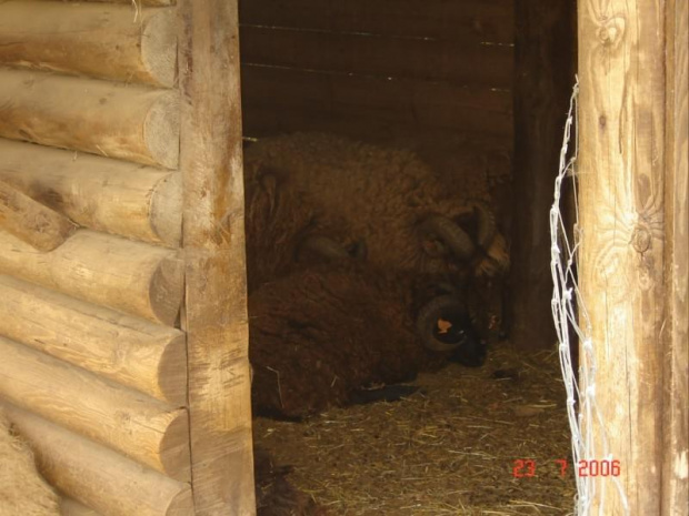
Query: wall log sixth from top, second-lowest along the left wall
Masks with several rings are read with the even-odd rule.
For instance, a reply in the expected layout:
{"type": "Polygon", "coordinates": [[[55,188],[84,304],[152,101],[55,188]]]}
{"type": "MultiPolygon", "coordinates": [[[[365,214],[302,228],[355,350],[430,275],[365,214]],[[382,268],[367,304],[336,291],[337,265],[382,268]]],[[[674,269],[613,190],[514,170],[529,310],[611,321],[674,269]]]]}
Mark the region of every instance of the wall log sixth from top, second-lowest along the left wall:
{"type": "Polygon", "coordinates": [[[0,397],[178,480],[189,480],[187,411],[0,337],[0,397]]]}

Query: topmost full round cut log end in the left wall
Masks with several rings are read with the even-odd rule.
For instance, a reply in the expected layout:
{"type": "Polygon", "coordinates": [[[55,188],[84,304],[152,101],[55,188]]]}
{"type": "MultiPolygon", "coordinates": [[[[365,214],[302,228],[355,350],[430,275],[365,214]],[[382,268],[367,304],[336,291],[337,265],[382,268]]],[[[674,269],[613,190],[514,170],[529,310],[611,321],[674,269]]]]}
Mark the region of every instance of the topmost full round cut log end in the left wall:
{"type": "Polygon", "coordinates": [[[174,87],[177,75],[177,30],[173,10],[151,16],[143,27],[141,59],[148,73],[166,88],[174,87]]]}

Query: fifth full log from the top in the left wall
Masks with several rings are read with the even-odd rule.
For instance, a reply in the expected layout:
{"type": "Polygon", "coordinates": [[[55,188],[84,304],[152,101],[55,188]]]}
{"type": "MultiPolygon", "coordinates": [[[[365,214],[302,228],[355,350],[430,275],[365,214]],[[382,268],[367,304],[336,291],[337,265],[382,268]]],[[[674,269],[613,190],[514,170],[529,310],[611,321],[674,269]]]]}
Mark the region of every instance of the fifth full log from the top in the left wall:
{"type": "Polygon", "coordinates": [[[173,406],[187,405],[187,350],[179,330],[7,275],[0,275],[0,335],[173,406]]]}

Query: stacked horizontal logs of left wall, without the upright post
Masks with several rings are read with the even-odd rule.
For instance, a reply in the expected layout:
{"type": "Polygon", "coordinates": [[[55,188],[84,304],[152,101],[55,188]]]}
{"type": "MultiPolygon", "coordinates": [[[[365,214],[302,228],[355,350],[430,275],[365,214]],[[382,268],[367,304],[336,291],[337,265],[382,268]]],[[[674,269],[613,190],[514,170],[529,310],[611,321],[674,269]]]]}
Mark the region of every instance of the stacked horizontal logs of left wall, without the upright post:
{"type": "Polygon", "coordinates": [[[0,403],[73,516],[194,514],[170,4],[0,3],[0,403]]]}

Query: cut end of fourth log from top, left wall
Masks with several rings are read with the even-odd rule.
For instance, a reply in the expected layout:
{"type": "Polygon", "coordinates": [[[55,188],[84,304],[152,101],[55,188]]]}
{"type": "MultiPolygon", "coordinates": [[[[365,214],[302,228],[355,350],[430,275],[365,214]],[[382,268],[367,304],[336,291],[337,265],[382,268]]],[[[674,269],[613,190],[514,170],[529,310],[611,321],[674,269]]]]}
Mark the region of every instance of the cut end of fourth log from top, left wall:
{"type": "Polygon", "coordinates": [[[184,262],[179,255],[160,262],[149,287],[150,306],[158,321],[174,326],[184,291],[184,262]]]}

